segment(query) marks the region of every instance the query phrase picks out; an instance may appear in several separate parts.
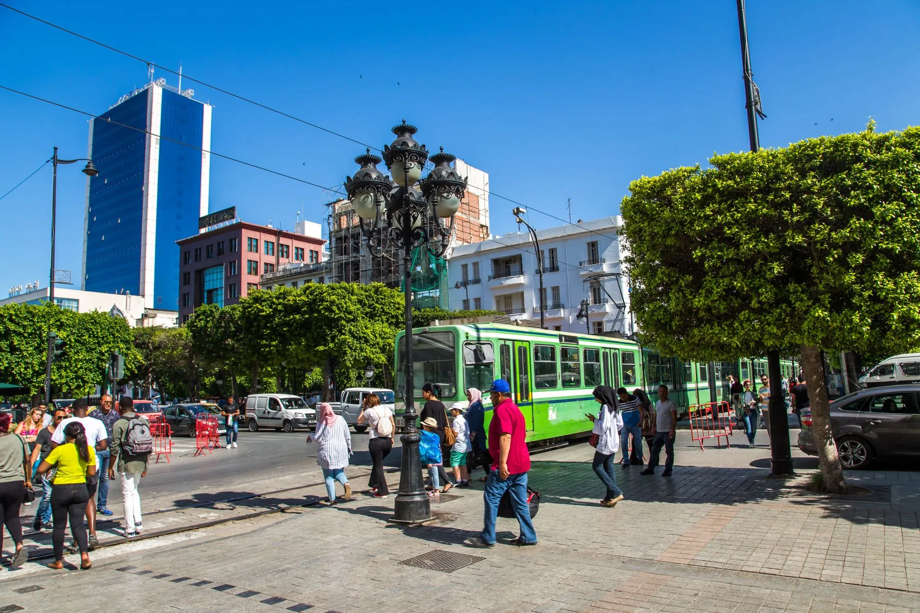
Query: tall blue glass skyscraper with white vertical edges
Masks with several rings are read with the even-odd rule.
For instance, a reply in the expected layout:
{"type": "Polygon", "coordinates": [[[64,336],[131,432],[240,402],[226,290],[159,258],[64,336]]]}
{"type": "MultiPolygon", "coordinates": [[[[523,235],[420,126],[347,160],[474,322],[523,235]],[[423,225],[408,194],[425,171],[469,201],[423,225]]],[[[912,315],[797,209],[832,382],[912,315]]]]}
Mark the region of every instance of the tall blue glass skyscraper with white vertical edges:
{"type": "Polygon", "coordinates": [[[157,79],[90,122],[83,289],[178,311],[176,241],[208,213],[211,110],[157,79]]]}

